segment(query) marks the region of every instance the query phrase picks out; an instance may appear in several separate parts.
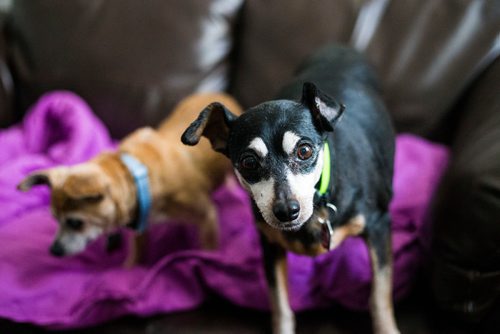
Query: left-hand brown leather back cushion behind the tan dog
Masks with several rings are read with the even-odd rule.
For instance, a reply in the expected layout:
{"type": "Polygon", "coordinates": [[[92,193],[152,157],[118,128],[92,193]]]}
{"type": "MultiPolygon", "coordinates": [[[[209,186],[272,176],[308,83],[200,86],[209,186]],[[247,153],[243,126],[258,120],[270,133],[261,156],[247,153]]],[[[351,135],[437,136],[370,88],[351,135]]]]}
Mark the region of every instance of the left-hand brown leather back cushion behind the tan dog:
{"type": "Polygon", "coordinates": [[[81,95],[122,137],[193,91],[226,88],[241,0],[20,0],[9,20],[18,110],[81,95]]]}

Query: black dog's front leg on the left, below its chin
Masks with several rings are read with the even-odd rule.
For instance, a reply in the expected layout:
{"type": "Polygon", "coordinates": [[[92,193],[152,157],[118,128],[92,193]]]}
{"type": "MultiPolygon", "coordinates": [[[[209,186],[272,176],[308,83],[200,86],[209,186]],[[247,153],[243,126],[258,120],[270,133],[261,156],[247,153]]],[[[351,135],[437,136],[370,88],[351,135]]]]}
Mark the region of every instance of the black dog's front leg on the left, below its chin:
{"type": "Polygon", "coordinates": [[[267,286],[271,302],[273,334],[295,333],[295,318],[288,300],[286,251],[260,234],[267,286]]]}

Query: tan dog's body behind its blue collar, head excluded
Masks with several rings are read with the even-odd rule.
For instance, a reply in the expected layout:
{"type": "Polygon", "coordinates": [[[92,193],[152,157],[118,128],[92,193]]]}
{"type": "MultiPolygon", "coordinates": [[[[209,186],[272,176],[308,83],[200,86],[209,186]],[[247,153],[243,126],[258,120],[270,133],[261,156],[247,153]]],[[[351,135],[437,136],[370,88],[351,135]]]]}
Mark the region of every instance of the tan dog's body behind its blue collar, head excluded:
{"type": "Polygon", "coordinates": [[[120,151],[133,154],[150,168],[153,212],[186,219],[200,228],[205,249],[218,244],[217,212],[211,192],[222,184],[231,170],[224,155],[215,152],[207,139],[196,147],[181,142],[184,129],[208,104],[220,102],[238,115],[238,103],[225,94],[196,94],[182,100],[157,130],[139,129],[120,145],[120,151]]]}

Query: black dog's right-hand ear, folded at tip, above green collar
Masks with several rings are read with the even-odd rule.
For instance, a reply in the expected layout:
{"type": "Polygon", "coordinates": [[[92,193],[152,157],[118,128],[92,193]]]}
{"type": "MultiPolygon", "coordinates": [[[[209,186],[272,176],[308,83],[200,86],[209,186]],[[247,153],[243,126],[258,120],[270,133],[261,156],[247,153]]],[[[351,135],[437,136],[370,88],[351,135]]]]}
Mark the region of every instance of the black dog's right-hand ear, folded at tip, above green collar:
{"type": "Polygon", "coordinates": [[[312,113],[314,122],[323,131],[333,131],[333,126],[344,113],[344,105],[321,92],[313,83],[306,82],[302,87],[302,104],[312,113]]]}

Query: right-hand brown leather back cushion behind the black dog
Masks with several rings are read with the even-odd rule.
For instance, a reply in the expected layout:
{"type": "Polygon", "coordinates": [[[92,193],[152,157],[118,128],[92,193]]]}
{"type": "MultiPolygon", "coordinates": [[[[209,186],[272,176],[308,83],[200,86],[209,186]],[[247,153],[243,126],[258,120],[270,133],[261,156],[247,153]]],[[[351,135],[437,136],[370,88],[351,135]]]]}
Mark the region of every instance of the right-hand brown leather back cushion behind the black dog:
{"type": "Polygon", "coordinates": [[[397,130],[439,137],[494,59],[499,14],[498,1],[248,1],[233,91],[245,107],[263,102],[306,54],[348,43],[378,69],[397,130]]]}

